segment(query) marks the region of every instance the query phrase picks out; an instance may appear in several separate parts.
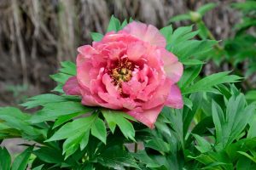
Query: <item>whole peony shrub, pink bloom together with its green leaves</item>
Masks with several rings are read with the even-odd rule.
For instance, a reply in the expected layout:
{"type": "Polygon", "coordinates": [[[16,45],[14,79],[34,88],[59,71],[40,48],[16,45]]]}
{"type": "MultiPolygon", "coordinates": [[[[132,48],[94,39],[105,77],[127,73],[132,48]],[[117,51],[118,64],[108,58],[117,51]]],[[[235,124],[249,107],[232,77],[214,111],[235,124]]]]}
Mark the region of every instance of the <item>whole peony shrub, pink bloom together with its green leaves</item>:
{"type": "Polygon", "coordinates": [[[112,17],[53,93],[0,108],[1,141],[30,141],[13,160],[0,148],[0,169],[255,169],[255,103],[230,71],[200,75],[224,49],[193,29],[112,17]]]}

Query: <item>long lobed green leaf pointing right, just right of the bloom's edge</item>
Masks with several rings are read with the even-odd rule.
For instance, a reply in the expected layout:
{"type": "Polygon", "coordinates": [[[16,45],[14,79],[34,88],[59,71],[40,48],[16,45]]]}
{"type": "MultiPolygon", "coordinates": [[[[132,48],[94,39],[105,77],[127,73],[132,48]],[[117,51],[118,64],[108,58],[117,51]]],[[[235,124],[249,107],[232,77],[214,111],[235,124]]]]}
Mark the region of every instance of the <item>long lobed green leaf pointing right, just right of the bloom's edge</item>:
{"type": "Polygon", "coordinates": [[[183,89],[183,94],[192,94],[195,92],[210,92],[212,88],[218,84],[227,82],[239,82],[241,77],[235,75],[228,75],[230,71],[218,72],[201,79],[195,84],[189,86],[189,88],[183,89]]]}

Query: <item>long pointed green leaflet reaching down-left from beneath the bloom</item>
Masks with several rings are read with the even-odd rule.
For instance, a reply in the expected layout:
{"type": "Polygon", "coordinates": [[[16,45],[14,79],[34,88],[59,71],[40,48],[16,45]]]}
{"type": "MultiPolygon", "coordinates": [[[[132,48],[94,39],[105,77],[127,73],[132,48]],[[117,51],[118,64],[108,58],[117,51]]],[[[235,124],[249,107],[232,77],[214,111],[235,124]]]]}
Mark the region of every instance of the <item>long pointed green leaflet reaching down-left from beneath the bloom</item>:
{"type": "Polygon", "coordinates": [[[67,139],[70,137],[70,134],[79,134],[85,133],[90,130],[93,123],[96,121],[96,114],[92,114],[91,116],[87,116],[84,118],[79,118],[74,120],[73,122],[68,122],[63,125],[54,135],[47,139],[45,142],[67,139]]]}

